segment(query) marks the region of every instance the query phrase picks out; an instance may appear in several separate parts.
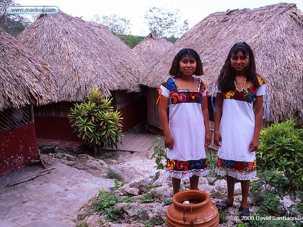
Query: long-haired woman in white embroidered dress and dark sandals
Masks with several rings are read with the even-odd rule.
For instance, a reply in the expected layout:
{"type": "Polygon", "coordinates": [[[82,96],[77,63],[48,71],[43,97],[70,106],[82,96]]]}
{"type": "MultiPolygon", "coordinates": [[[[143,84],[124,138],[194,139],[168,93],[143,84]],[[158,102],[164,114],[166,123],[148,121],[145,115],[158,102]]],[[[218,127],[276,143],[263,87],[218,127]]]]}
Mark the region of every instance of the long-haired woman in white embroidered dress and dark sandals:
{"type": "Polygon", "coordinates": [[[257,75],[255,58],[246,42],[235,43],[217,81],[214,142],[219,147],[215,172],[227,175],[227,198],[219,210],[233,205],[235,180],[241,182],[240,216],[249,216],[250,179],[256,176],[255,150],[262,126],[265,82],[257,75]]]}

